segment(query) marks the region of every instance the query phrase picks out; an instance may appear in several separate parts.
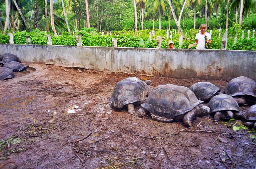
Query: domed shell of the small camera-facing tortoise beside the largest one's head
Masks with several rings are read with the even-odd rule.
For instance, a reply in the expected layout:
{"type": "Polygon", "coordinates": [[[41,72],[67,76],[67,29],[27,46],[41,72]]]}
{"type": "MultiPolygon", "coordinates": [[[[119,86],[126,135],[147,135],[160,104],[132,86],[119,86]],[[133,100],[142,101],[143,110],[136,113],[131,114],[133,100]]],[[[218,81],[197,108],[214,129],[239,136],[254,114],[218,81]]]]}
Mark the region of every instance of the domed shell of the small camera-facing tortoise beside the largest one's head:
{"type": "Polygon", "coordinates": [[[211,109],[211,116],[214,116],[216,112],[222,110],[239,112],[239,106],[234,97],[225,94],[214,96],[207,104],[207,106],[211,109]]]}

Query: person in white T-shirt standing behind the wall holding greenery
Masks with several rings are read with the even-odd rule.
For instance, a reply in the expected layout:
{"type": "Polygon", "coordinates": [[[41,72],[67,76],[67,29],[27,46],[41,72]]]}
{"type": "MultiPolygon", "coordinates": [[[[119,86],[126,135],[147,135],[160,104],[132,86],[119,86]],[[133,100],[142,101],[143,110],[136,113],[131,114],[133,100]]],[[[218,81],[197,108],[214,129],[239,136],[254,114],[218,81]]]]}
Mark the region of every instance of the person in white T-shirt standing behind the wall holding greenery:
{"type": "Polygon", "coordinates": [[[211,44],[211,35],[210,35],[210,33],[205,32],[205,30],[206,30],[205,24],[200,25],[200,30],[201,30],[201,32],[197,33],[195,35],[195,43],[193,44],[193,46],[197,45],[196,49],[206,49],[205,43],[207,42],[207,43],[211,44]],[[205,41],[204,36],[207,36],[206,41],[205,41]]]}

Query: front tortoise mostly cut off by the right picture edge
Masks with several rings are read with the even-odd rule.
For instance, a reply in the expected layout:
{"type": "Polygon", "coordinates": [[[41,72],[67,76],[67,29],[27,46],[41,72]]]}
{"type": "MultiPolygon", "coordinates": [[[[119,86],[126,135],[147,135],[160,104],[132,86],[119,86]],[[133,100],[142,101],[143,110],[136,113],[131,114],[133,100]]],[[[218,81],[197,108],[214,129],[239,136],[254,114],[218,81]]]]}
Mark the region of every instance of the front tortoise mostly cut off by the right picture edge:
{"type": "Polygon", "coordinates": [[[256,129],[256,104],[247,110],[245,113],[245,120],[247,121],[244,123],[246,127],[254,127],[256,129]]]}

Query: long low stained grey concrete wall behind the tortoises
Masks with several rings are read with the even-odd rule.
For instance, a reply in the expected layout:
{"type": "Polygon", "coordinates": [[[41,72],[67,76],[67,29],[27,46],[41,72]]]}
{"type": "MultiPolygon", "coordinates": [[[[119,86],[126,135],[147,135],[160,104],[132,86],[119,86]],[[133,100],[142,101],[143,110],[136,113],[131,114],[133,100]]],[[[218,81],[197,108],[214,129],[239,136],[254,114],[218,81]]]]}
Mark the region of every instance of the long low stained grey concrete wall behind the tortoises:
{"type": "Polygon", "coordinates": [[[28,63],[92,68],[175,78],[256,80],[256,51],[78,47],[0,44],[0,54],[28,63]]]}

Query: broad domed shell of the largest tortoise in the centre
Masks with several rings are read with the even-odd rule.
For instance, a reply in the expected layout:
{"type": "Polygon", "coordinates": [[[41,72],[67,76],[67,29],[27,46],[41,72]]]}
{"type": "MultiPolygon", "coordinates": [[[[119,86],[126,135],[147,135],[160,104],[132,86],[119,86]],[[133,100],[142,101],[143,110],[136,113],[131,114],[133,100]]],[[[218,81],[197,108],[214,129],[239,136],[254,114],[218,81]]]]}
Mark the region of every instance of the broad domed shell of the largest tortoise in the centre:
{"type": "Polygon", "coordinates": [[[202,103],[189,88],[177,85],[159,85],[151,91],[146,101],[141,105],[159,117],[175,119],[202,103]]]}

